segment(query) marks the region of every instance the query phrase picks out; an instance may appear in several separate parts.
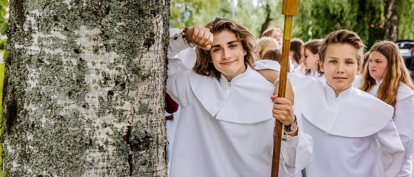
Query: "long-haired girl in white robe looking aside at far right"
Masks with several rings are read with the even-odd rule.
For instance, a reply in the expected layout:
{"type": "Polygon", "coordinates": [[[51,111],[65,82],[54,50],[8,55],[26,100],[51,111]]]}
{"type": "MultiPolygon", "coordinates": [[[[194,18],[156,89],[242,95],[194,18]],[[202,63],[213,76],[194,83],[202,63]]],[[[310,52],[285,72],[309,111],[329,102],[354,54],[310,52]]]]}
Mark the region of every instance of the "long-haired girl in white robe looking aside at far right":
{"type": "Polygon", "coordinates": [[[391,41],[375,43],[361,77],[363,91],[394,107],[394,124],[405,149],[404,165],[397,177],[412,177],[414,151],[414,84],[400,51],[391,41]],[[400,73],[400,74],[398,74],[400,73]]]}

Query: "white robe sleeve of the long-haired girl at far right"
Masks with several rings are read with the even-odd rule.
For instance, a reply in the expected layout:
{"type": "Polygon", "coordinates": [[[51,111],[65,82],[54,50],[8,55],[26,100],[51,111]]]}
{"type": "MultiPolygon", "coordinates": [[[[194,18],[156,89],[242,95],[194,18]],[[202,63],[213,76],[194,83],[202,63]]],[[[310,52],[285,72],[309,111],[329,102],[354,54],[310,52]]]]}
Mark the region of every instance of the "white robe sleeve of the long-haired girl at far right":
{"type": "Polygon", "coordinates": [[[397,101],[394,123],[405,149],[405,162],[414,151],[414,95],[397,101]]]}

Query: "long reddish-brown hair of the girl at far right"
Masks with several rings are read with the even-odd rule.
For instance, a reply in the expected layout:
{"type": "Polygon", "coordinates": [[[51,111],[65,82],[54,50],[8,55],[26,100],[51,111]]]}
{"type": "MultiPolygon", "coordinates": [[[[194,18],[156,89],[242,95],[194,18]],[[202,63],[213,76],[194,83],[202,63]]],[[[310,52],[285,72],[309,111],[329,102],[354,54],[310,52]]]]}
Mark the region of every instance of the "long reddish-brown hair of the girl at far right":
{"type": "MultiPolygon", "coordinates": [[[[376,42],[369,53],[377,51],[388,59],[387,67],[383,75],[383,82],[378,87],[377,97],[385,103],[395,106],[397,104],[397,93],[400,83],[406,84],[414,90],[414,84],[410,77],[410,72],[405,66],[405,61],[400,54],[400,50],[394,42],[383,40],[376,42]]],[[[375,86],[375,79],[369,74],[368,65],[365,65],[361,85],[359,89],[370,92],[375,86]]]]}

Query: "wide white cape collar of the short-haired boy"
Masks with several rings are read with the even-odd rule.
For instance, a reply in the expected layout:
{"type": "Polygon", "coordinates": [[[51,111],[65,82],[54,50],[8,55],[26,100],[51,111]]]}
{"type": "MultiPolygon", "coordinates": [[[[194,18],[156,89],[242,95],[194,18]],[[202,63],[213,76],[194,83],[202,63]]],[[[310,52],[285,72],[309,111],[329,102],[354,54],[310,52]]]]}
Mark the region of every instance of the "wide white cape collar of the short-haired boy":
{"type": "Polygon", "coordinates": [[[291,82],[297,88],[295,102],[303,116],[328,134],[366,137],[392,120],[392,106],[354,87],[336,98],[335,91],[323,80],[292,74],[291,82]]]}

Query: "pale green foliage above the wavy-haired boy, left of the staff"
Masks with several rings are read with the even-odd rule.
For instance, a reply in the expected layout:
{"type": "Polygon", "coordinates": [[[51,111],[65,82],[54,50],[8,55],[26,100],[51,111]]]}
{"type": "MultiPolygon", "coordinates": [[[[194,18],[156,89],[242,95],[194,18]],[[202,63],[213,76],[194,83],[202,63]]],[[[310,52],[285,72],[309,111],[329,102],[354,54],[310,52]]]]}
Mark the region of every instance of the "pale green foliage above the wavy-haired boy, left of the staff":
{"type": "MultiPolygon", "coordinates": [[[[265,5],[272,9],[272,25],[283,19],[278,1],[274,0],[236,0],[235,20],[245,25],[256,36],[260,34],[260,28],[265,21],[265,5]]],[[[185,26],[205,26],[215,17],[232,18],[233,0],[171,0],[171,28],[184,28],[185,26]]]]}

